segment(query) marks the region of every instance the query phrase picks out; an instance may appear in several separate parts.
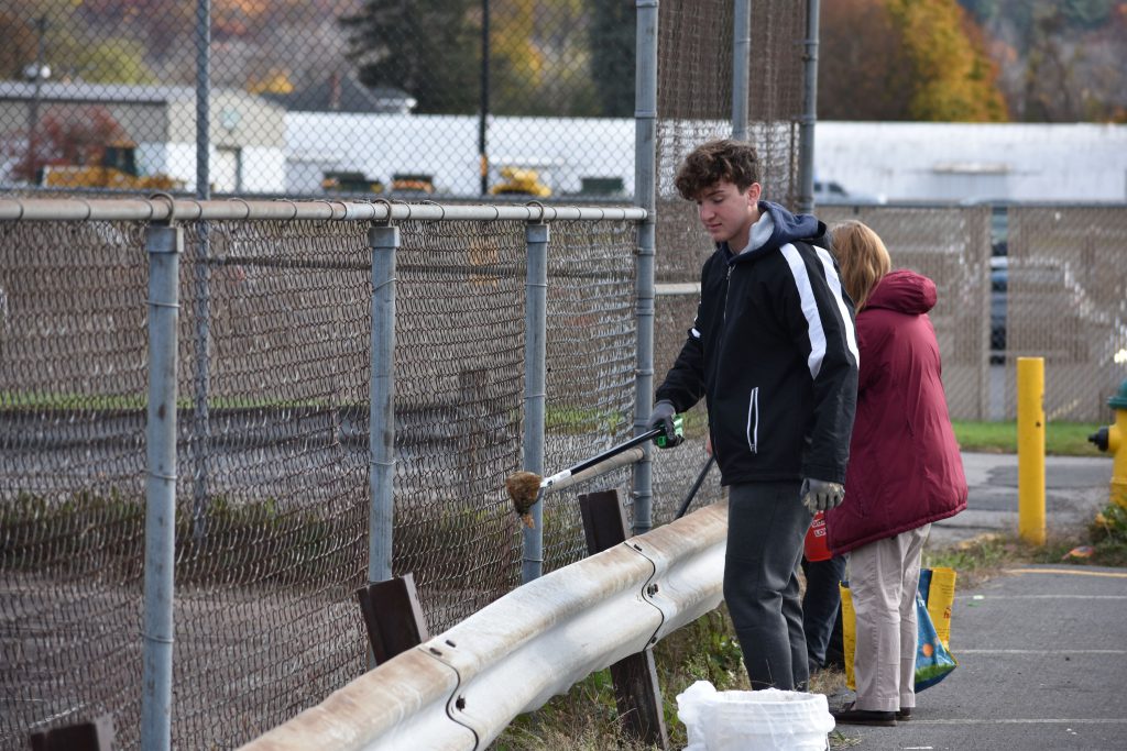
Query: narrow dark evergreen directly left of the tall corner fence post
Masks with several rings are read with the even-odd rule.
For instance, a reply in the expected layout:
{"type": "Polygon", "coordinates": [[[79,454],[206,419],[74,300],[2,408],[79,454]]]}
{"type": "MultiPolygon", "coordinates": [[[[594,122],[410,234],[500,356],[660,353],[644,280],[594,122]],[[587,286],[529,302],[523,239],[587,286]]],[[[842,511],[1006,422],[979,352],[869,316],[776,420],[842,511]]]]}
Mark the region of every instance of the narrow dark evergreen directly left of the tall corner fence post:
{"type": "Polygon", "coordinates": [[[635,110],[637,10],[633,0],[587,0],[591,12],[591,77],[600,114],[629,117],[635,110]]]}

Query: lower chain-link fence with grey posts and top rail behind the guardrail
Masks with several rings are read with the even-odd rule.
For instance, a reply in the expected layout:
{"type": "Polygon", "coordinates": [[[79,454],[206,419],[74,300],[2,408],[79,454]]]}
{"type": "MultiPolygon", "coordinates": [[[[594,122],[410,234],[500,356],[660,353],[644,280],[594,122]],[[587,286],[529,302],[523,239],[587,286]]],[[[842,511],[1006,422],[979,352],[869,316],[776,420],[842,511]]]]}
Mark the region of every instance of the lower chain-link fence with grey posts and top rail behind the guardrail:
{"type": "MultiPolygon", "coordinates": [[[[175,674],[172,744],[234,746],[365,671],[372,576],[414,572],[435,632],[518,585],[505,477],[631,435],[644,216],[0,200],[0,744],[110,714],[137,748],[152,658],[175,674]],[[530,236],[540,457],[522,456],[530,236]]],[[[657,470],[669,507],[698,456],[657,470]]],[[[598,482],[631,498],[629,468],[598,482]]],[[[593,488],[547,497],[545,570],[585,555],[593,488]]]]}

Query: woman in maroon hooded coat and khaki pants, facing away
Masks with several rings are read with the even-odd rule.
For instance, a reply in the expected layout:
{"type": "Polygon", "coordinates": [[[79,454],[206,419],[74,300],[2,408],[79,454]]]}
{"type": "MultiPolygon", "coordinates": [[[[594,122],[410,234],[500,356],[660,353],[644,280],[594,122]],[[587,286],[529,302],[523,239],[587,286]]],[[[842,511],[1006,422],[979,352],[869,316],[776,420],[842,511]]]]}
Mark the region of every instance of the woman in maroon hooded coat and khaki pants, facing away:
{"type": "Polygon", "coordinates": [[[833,231],[861,354],[845,499],[826,512],[829,548],[850,555],[857,614],[857,700],[838,723],[895,725],[915,706],[920,554],[931,522],[967,506],[928,311],[935,284],[890,271],[880,238],[860,222],[833,231]]]}

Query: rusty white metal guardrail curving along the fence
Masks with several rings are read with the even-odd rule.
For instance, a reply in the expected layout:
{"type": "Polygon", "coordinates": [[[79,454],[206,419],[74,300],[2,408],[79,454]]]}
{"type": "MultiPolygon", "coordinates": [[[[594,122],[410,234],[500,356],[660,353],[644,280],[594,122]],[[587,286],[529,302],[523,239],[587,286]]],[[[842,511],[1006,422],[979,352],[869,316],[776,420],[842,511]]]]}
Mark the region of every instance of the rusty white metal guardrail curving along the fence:
{"type": "Polygon", "coordinates": [[[535,579],[242,748],[485,749],[517,715],[719,606],[727,522],[715,503],[535,579]]]}

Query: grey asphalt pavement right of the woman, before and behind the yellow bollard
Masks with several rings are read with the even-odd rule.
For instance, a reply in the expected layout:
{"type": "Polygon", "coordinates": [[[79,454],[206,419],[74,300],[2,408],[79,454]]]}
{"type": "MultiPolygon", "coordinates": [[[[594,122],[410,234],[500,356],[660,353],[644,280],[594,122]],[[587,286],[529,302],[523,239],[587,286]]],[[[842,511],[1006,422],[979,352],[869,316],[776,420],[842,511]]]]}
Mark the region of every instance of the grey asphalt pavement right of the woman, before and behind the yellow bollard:
{"type": "MultiPolygon", "coordinates": [[[[930,544],[1017,531],[1015,456],[965,454],[968,509],[930,544]]],[[[1084,525],[1108,502],[1110,458],[1048,457],[1047,529],[1084,525]]],[[[840,725],[860,751],[1127,749],[1127,570],[1015,565],[956,587],[959,667],[920,692],[896,727],[840,725]]],[[[831,697],[836,706],[848,697],[831,697]]]]}

